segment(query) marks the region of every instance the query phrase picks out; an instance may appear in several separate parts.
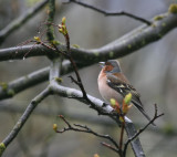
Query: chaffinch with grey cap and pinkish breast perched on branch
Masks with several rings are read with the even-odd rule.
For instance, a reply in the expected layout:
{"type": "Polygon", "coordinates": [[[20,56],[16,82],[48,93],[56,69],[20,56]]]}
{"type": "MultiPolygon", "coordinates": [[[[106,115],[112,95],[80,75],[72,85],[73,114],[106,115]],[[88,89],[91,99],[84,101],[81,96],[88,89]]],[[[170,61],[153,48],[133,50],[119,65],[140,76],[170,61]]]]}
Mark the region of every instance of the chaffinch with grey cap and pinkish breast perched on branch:
{"type": "Polygon", "coordinates": [[[143,104],[139,100],[140,95],[122,73],[118,61],[108,60],[107,62],[100,62],[100,64],[102,65],[102,71],[100,72],[97,84],[102,97],[107,103],[110,103],[111,98],[114,98],[118,104],[122,104],[125,95],[132,93],[132,103],[148,121],[150,121],[143,108],[143,104]]]}

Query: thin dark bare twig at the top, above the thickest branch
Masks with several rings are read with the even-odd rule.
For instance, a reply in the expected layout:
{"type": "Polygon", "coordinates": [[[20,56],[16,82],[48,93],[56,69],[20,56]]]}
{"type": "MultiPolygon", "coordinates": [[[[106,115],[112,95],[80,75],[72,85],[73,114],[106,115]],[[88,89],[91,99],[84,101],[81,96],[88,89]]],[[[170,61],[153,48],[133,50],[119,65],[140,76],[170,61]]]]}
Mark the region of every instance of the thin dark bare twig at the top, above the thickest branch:
{"type": "Polygon", "coordinates": [[[137,21],[140,21],[143,23],[146,23],[147,25],[152,24],[150,21],[148,21],[146,19],[143,19],[140,17],[137,17],[135,14],[128,13],[126,11],[111,12],[111,11],[103,10],[103,9],[101,9],[98,7],[94,7],[94,6],[91,6],[88,3],[84,3],[84,2],[77,1],[77,0],[69,0],[67,2],[63,2],[63,3],[69,3],[69,2],[77,3],[77,4],[83,6],[85,8],[90,8],[92,10],[94,10],[94,11],[103,13],[104,15],[126,15],[126,17],[129,17],[129,18],[135,19],[137,21]]]}

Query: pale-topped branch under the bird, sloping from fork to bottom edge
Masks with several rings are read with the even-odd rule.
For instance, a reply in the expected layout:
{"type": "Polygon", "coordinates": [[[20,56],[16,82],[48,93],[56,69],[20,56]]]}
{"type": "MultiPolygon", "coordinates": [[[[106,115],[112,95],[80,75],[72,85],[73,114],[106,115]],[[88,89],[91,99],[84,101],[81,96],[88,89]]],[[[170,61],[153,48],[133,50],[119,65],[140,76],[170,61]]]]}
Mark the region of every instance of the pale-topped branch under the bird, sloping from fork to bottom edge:
{"type": "MultiPolygon", "coordinates": [[[[86,100],[81,98],[83,96],[83,94],[79,90],[64,87],[64,86],[61,86],[56,83],[51,86],[51,90],[52,90],[53,94],[58,94],[62,97],[72,97],[72,98],[77,100],[84,104],[90,105],[90,103],[86,100]]],[[[93,97],[88,94],[87,94],[87,97],[92,102],[92,104],[95,104],[95,108],[100,109],[98,114],[104,115],[105,113],[107,113],[107,115],[110,115],[110,117],[117,123],[117,117],[114,117],[114,115],[112,115],[113,108],[110,105],[104,105],[104,103],[101,100],[93,97]]],[[[129,138],[136,134],[136,128],[135,128],[134,124],[132,123],[132,121],[128,119],[127,117],[125,117],[125,122],[126,122],[125,129],[126,129],[127,136],[129,138]]],[[[133,150],[137,157],[145,156],[138,138],[136,138],[136,140],[133,140],[131,144],[132,144],[133,150]]]]}

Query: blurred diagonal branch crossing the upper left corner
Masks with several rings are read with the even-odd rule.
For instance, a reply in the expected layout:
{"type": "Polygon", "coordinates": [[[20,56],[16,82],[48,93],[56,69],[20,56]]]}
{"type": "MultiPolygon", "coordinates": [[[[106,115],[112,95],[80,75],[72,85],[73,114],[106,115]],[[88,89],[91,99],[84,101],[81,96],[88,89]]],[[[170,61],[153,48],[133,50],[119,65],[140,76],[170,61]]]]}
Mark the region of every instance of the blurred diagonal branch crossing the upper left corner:
{"type": "Polygon", "coordinates": [[[7,39],[8,35],[10,35],[17,29],[22,27],[27,21],[29,21],[33,15],[35,15],[46,3],[48,0],[43,0],[42,2],[35,4],[33,8],[29,9],[25,13],[23,13],[21,17],[8,24],[3,30],[1,30],[0,44],[7,39]]]}

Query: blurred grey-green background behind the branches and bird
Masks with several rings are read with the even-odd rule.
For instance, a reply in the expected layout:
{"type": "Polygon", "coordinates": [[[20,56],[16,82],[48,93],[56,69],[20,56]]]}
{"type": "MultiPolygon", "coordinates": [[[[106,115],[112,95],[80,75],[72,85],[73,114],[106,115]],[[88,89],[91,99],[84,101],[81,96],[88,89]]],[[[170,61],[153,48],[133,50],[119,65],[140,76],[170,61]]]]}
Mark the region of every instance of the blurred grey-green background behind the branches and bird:
{"type": "MultiPolygon", "coordinates": [[[[147,20],[165,13],[170,3],[176,0],[83,0],[90,4],[110,11],[127,11],[147,20]]],[[[0,30],[12,20],[23,14],[39,0],[1,0],[0,30]]],[[[127,17],[104,17],[93,10],[74,3],[62,4],[56,0],[55,23],[66,17],[66,24],[71,36],[71,44],[81,48],[94,49],[103,46],[115,39],[128,33],[142,23],[127,17]]],[[[13,32],[1,45],[2,48],[17,46],[20,43],[38,35],[38,28],[46,19],[46,8],[29,20],[23,27],[13,32]]],[[[132,84],[142,95],[142,102],[150,116],[154,115],[154,104],[165,116],[156,121],[157,127],[149,127],[140,136],[145,154],[148,157],[176,157],[177,155],[177,30],[170,31],[160,41],[147,45],[131,55],[119,59],[122,69],[132,84]]],[[[63,41],[58,34],[56,38],[63,41]]],[[[64,41],[63,41],[64,42],[64,41]]],[[[44,57],[31,57],[19,61],[0,62],[0,82],[10,82],[33,71],[49,66],[50,61],[44,57]]],[[[80,74],[86,92],[102,100],[97,90],[97,64],[82,69],[80,74]],[[86,72],[86,73],[85,73],[86,72]]],[[[73,74],[73,73],[72,73],[73,74]]],[[[76,87],[67,74],[63,76],[63,85],[76,87]]],[[[0,142],[9,134],[30,101],[40,93],[48,82],[25,90],[13,98],[0,102],[0,142]]],[[[95,132],[110,134],[115,139],[119,137],[117,126],[86,105],[76,101],[50,96],[44,100],[31,115],[24,127],[6,150],[3,157],[101,157],[116,156],[110,149],[100,145],[103,139],[84,133],[67,132],[55,134],[53,123],[60,128],[64,124],[58,118],[63,114],[71,123],[87,125],[95,132]]],[[[135,108],[128,117],[137,128],[147,121],[135,108]]],[[[131,148],[128,157],[133,157],[131,148]]]]}

